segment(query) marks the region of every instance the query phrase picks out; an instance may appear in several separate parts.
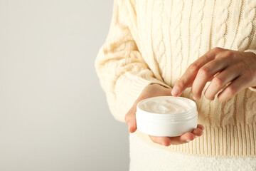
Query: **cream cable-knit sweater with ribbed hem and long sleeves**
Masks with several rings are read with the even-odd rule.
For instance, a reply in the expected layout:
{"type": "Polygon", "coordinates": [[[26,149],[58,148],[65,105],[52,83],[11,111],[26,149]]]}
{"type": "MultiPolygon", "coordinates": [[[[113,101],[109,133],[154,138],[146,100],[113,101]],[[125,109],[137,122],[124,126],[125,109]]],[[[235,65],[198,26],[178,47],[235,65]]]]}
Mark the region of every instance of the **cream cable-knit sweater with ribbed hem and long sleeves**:
{"type": "MultiPolygon", "coordinates": [[[[211,48],[256,53],[255,8],[256,0],[114,0],[110,31],[95,61],[114,118],[124,122],[150,83],[172,88],[211,48]]],[[[190,88],[181,96],[193,99],[190,88]]],[[[255,89],[246,88],[226,103],[202,96],[196,104],[198,123],[206,128],[200,138],[165,147],[139,130],[137,136],[185,154],[256,156],[255,89]]]]}

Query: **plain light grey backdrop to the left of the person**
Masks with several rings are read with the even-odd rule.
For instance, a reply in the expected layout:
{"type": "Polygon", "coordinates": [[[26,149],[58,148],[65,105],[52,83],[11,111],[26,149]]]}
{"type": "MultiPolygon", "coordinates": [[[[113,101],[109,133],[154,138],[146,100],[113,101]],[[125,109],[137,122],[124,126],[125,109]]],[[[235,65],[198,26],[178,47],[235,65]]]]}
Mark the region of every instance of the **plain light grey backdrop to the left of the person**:
{"type": "Polygon", "coordinates": [[[0,0],[0,170],[128,170],[95,73],[112,0],[0,0]]]}

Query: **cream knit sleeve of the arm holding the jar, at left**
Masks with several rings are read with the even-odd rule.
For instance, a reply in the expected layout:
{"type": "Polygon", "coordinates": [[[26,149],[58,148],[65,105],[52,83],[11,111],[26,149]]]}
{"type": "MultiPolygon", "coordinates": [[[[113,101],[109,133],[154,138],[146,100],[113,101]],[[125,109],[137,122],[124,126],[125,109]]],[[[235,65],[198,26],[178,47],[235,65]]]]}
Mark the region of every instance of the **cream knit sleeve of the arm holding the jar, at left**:
{"type": "Polygon", "coordinates": [[[144,87],[152,83],[170,88],[154,76],[134,40],[131,24],[134,21],[128,0],[114,0],[112,21],[105,43],[95,60],[100,85],[107,96],[110,112],[116,120],[124,117],[144,87]]]}

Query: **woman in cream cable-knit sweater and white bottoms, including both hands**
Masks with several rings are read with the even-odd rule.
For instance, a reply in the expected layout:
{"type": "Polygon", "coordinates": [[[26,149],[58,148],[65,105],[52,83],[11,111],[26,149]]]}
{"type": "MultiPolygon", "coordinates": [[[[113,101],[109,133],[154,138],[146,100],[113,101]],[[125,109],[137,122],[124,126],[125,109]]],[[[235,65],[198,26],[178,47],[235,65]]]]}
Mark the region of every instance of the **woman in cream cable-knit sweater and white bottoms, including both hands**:
{"type": "Polygon", "coordinates": [[[256,170],[256,0],[115,0],[95,61],[110,110],[129,128],[129,170],[256,170]],[[196,101],[198,128],[139,132],[137,103],[196,101]]]}

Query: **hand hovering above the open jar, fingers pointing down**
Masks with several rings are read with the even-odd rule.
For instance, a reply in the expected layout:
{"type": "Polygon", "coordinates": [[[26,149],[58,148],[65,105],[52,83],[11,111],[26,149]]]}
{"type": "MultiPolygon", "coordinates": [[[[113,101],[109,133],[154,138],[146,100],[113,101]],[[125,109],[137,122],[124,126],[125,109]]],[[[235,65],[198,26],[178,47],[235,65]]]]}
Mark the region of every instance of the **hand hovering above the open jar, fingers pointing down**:
{"type": "Polygon", "coordinates": [[[213,100],[224,88],[218,93],[218,100],[221,102],[232,98],[244,88],[255,87],[255,54],[213,48],[188,67],[176,82],[171,94],[181,95],[186,88],[191,87],[193,98],[199,100],[208,81],[211,82],[204,93],[205,97],[213,100]]]}

